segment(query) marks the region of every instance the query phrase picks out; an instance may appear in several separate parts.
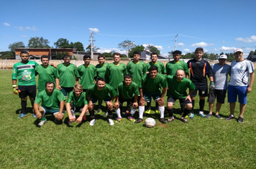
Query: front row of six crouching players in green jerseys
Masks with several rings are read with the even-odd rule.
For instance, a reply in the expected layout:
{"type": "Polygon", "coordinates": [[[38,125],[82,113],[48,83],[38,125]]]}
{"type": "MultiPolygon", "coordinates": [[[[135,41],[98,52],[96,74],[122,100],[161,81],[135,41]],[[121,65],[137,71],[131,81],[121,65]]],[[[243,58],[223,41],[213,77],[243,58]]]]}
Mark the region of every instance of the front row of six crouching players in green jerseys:
{"type": "Polygon", "coordinates": [[[143,113],[145,110],[145,102],[150,102],[151,97],[159,105],[160,122],[166,123],[164,118],[164,96],[168,89],[168,112],[170,118],[168,122],[173,122],[173,104],[175,100],[180,100],[180,103],[186,105],[186,109],[183,111],[181,121],[188,123],[186,115],[192,109],[191,92],[195,90],[194,84],[190,79],[185,77],[185,72],[179,69],[175,76],[168,75],[165,77],[163,74],[158,74],[158,68],[156,66],[150,67],[148,74],[142,77],[142,81],[139,85],[132,81],[132,76],[129,74],[124,75],[124,81],[120,83],[116,90],[109,84],[106,84],[105,79],[99,77],[96,79],[96,84],[92,84],[88,87],[86,92],[83,92],[83,86],[76,84],[73,88],[73,92],[68,95],[68,100],[65,105],[65,97],[60,90],[56,90],[54,83],[46,82],[46,89],[39,92],[35,99],[35,115],[40,120],[38,126],[47,122],[45,115],[53,115],[55,117],[55,123],[63,120],[64,106],[68,112],[69,124],[72,122],[82,122],[86,120],[86,114],[90,113],[91,121],[90,125],[94,125],[96,118],[94,115],[94,107],[97,101],[104,100],[107,110],[109,112],[108,122],[109,125],[114,125],[113,121],[113,102],[116,111],[116,122],[121,122],[122,115],[120,107],[124,102],[127,102],[128,107],[132,107],[129,112],[128,120],[132,122],[142,122],[143,113]],[[162,91],[160,88],[162,87],[162,91]],[[189,89],[187,94],[186,90],[189,89]],[[42,105],[39,106],[40,102],[42,105]],[[134,113],[139,110],[139,118],[134,120],[134,113]],[[75,112],[80,112],[81,115],[76,119],[75,112]]]}

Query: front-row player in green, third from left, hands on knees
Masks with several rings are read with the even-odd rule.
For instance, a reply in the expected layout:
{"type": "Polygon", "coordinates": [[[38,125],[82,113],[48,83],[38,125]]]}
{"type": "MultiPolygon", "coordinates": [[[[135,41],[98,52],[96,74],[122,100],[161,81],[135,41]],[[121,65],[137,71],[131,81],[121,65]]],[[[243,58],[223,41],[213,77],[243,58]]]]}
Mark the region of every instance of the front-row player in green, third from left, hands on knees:
{"type": "Polygon", "coordinates": [[[95,123],[94,106],[97,100],[104,100],[109,110],[109,125],[114,125],[113,118],[113,100],[116,97],[116,90],[109,84],[106,84],[105,79],[99,77],[96,79],[96,84],[92,84],[86,91],[88,100],[88,110],[90,112],[90,125],[95,123]]]}

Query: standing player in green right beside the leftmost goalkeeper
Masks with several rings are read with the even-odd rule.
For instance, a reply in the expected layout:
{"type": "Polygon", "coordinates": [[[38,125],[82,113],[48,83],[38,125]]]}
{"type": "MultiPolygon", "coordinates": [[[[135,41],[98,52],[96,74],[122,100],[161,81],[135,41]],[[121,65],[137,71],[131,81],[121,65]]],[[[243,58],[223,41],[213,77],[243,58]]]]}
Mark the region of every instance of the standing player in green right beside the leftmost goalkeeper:
{"type": "Polygon", "coordinates": [[[42,55],[42,64],[35,68],[35,74],[38,74],[37,90],[38,92],[45,90],[46,82],[53,82],[55,87],[60,90],[60,80],[58,79],[58,69],[49,66],[49,56],[42,55]]]}

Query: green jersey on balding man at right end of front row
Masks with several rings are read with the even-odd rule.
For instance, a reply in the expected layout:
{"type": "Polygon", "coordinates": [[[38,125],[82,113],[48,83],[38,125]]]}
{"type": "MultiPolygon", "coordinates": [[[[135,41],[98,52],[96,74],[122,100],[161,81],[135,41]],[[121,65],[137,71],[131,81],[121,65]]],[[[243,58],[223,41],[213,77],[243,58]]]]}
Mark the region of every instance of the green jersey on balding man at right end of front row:
{"type": "Polygon", "coordinates": [[[195,90],[195,85],[190,79],[183,77],[183,79],[179,82],[175,76],[168,75],[168,97],[173,97],[177,99],[185,99],[188,94],[186,92],[187,89],[195,90]]]}

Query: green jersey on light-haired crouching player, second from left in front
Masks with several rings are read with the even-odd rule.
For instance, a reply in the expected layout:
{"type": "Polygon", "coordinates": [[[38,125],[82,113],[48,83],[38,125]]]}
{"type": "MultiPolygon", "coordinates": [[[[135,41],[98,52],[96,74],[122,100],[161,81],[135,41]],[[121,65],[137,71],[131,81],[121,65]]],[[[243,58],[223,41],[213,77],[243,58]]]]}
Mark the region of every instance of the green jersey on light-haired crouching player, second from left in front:
{"type": "Polygon", "coordinates": [[[68,94],[67,103],[72,103],[75,107],[83,107],[84,105],[88,105],[86,100],[86,92],[81,92],[79,97],[76,97],[75,93],[72,91],[68,94]]]}

